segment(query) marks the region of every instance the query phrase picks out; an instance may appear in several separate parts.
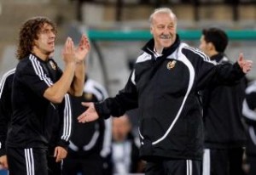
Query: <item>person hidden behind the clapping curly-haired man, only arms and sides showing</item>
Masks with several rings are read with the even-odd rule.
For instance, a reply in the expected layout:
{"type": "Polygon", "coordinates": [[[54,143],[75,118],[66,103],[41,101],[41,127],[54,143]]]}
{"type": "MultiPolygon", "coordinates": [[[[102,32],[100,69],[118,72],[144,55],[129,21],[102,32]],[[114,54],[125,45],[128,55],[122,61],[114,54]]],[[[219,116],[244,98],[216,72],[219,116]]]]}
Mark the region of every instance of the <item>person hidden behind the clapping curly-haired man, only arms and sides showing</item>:
{"type": "MultiPolygon", "coordinates": [[[[0,81],[0,165],[7,170],[8,162],[5,140],[12,116],[11,96],[15,70],[14,68],[4,73],[0,81]]],[[[65,100],[58,104],[58,109],[59,115],[55,117],[54,130],[51,133],[48,146],[47,161],[49,175],[62,174],[62,160],[67,156],[67,147],[71,137],[71,129],[69,128],[73,124],[69,95],[65,95],[65,100]]]]}

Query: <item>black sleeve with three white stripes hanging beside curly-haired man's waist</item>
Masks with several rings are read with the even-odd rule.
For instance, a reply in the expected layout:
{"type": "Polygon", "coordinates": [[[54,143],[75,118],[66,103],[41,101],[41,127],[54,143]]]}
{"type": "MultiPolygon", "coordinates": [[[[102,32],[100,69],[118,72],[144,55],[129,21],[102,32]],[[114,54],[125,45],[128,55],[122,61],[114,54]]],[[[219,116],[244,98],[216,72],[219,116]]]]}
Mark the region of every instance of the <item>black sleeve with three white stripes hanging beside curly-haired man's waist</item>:
{"type": "Polygon", "coordinates": [[[61,146],[67,150],[69,139],[72,133],[72,107],[70,102],[69,94],[65,95],[64,100],[60,106],[60,132],[59,132],[59,140],[56,146],[61,146]]]}

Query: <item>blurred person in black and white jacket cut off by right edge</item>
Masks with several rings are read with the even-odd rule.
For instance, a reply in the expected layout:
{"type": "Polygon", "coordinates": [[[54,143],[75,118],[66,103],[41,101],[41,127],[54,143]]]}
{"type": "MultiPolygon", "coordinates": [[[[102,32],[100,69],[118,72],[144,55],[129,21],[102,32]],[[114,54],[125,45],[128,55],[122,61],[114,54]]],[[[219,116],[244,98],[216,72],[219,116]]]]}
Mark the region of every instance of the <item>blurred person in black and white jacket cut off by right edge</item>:
{"type": "Polygon", "coordinates": [[[256,81],[249,83],[242,105],[242,114],[247,122],[248,175],[256,174],[256,81]]]}

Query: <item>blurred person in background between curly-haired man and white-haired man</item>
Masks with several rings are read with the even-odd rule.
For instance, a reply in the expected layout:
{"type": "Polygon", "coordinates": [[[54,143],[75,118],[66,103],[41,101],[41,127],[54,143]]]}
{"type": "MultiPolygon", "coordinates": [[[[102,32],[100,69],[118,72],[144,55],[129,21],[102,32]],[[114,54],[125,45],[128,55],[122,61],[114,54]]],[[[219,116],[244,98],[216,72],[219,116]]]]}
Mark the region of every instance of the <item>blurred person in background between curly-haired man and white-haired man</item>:
{"type": "Polygon", "coordinates": [[[81,97],[72,97],[73,133],[68,146],[68,155],[63,162],[63,175],[110,175],[112,120],[99,118],[85,125],[77,121],[84,111],[82,101],[99,102],[108,97],[105,88],[85,76],[81,97]]]}

